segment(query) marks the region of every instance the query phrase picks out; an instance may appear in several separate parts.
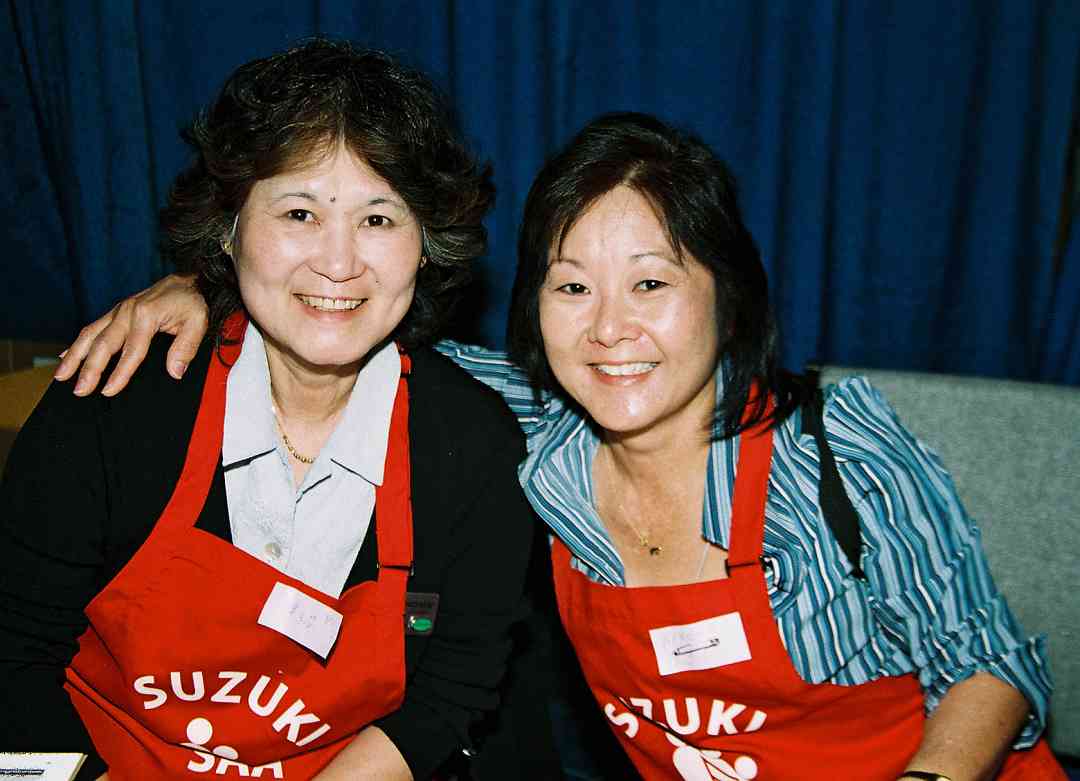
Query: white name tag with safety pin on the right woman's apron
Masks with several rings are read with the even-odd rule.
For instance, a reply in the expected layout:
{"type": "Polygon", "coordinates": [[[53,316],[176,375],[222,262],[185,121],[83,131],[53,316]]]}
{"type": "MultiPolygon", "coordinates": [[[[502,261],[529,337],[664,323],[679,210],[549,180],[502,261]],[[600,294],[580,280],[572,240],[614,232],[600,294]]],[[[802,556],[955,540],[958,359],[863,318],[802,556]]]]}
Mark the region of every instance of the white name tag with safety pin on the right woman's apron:
{"type": "Polygon", "coordinates": [[[713,670],[751,658],[746,631],[738,612],[677,627],[650,629],[649,638],[661,675],[713,670]]]}

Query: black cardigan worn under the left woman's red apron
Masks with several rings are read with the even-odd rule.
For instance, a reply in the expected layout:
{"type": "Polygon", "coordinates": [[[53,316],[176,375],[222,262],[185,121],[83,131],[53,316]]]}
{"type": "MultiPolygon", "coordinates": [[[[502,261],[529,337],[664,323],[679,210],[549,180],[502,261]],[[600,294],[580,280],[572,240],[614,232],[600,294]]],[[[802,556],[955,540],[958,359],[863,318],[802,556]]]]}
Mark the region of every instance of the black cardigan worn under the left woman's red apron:
{"type": "MultiPolygon", "coordinates": [[[[179,382],[157,339],[130,388],[77,399],[53,383],[19,433],[0,488],[0,749],[81,751],[80,778],[105,766],[62,689],[83,609],[134,554],[184,462],[211,358],[179,382]]],[[[417,779],[470,743],[498,701],[522,614],[535,522],[517,484],[521,430],[499,396],[431,350],[413,354],[409,437],[415,574],[441,595],[435,632],[406,637],[406,691],[377,722],[417,779]]],[[[224,473],[198,522],[228,539],[224,473]]],[[[368,534],[347,585],[370,580],[368,534]]],[[[226,595],[222,595],[225,597],[226,595]]]]}

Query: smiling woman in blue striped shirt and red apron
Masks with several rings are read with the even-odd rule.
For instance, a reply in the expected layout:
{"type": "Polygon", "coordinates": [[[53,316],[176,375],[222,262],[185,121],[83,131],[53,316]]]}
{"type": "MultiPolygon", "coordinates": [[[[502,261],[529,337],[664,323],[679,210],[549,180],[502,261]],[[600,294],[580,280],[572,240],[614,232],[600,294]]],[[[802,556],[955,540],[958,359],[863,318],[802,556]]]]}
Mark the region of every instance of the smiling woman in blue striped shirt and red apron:
{"type": "Polygon", "coordinates": [[[1044,742],[1009,751],[1041,728],[1044,654],[947,476],[865,381],[816,406],[775,335],[734,183],[700,139],[600,117],[539,173],[509,341],[551,395],[531,415],[515,400],[519,476],[638,772],[1063,778],[1044,742]],[[821,442],[842,453],[835,483],[821,442]],[[861,557],[839,550],[825,490],[861,497],[861,557]]]}

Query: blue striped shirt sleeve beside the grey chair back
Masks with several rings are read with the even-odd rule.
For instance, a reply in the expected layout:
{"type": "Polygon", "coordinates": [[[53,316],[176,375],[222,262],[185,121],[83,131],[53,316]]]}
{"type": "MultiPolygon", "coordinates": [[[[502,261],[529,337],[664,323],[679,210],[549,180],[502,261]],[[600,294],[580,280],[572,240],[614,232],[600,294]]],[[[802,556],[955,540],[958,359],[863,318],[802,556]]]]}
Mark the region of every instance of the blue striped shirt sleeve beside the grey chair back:
{"type": "Polygon", "coordinates": [[[928,713],[954,684],[988,672],[1030,703],[1014,748],[1031,745],[1051,691],[1045,637],[1025,637],[995,587],[951,476],[865,378],[843,380],[831,402],[831,445],[865,497],[859,512],[870,607],[907,649],[928,713]]]}

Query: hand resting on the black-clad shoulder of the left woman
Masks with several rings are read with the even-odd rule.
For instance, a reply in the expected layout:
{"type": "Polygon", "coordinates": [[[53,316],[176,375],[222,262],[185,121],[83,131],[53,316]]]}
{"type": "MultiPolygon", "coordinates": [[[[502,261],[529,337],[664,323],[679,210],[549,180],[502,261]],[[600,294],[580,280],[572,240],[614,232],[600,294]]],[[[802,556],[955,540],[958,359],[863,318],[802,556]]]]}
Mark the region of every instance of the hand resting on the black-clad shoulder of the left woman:
{"type": "Polygon", "coordinates": [[[206,302],[195,289],[194,278],[170,274],[120,301],[80,331],[62,354],[55,378],[69,379],[79,369],[75,394],[87,395],[97,387],[109,360],[120,352],[116,368],[102,388],[104,395],[114,395],[143,363],[153,335],[164,332],[176,337],[165,365],[168,374],[179,379],[199,349],[207,322],[206,302]]]}

